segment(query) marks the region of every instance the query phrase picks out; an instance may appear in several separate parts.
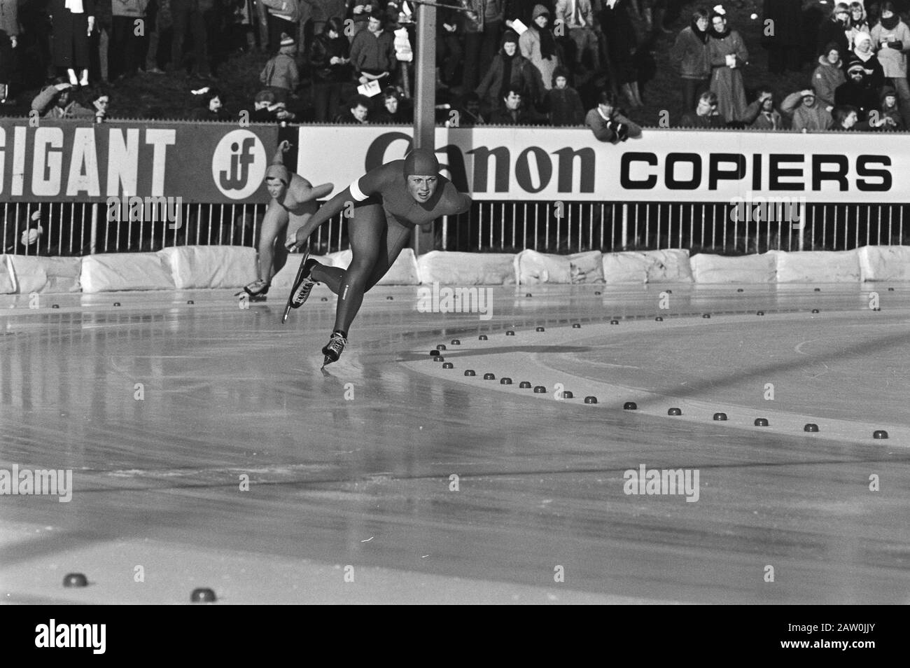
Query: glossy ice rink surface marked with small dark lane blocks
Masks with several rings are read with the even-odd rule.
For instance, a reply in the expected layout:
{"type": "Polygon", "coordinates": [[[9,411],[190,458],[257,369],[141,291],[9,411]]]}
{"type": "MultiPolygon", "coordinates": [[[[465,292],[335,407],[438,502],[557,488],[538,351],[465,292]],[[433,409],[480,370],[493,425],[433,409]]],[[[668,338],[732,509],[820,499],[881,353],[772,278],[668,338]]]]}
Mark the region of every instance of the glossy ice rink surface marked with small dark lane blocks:
{"type": "Polygon", "coordinates": [[[0,469],[73,471],[0,496],[0,600],[910,602],[910,287],[491,294],[374,288],[326,373],[324,287],[0,297],[0,469]]]}

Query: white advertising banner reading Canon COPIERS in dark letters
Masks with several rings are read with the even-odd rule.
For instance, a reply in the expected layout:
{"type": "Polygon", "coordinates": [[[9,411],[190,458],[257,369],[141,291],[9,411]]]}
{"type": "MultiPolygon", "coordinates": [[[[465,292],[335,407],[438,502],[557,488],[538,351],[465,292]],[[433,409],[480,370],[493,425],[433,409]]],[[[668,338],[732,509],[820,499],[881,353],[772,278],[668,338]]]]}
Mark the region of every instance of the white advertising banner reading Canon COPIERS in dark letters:
{"type": "MultiPolygon", "coordinates": [[[[904,135],[645,129],[619,145],[581,128],[437,127],[443,174],[478,200],[903,203],[904,135]]],[[[336,192],[404,157],[409,127],[300,127],[298,173],[336,192]]]]}

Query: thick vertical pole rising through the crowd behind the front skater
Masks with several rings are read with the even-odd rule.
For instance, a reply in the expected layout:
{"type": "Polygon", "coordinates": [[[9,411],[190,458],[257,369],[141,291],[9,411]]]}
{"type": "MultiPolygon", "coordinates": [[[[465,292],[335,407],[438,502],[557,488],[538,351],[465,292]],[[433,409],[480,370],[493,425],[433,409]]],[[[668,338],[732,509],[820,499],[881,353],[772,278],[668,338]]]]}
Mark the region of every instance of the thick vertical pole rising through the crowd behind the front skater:
{"type": "MultiPolygon", "coordinates": [[[[407,72],[405,72],[407,75],[407,72]]],[[[417,51],[414,57],[414,147],[435,150],[436,134],[436,7],[417,5],[417,51]]],[[[435,223],[434,223],[435,225],[435,223]]],[[[433,249],[433,226],[414,228],[414,254],[433,249]]]]}

